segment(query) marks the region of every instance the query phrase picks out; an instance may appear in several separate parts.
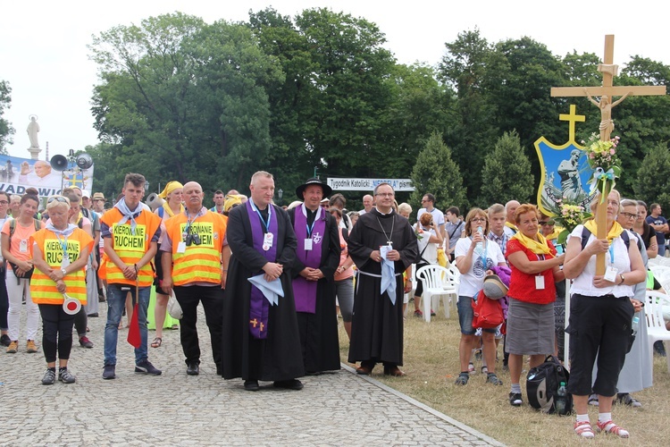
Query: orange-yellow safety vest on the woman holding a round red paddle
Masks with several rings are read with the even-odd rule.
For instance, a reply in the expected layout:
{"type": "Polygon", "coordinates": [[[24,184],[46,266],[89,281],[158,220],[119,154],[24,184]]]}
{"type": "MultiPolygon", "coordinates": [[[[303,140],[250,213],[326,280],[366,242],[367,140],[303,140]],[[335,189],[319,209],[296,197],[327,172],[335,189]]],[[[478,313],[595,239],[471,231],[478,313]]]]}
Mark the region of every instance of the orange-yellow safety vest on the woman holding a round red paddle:
{"type": "MultiPolygon", "coordinates": [[[[61,238],[63,240],[63,238],[61,238]]],[[[42,256],[50,267],[58,270],[63,262],[63,246],[58,241],[55,233],[51,230],[42,229],[30,236],[30,247],[38,244],[42,256]]],[[[90,255],[93,249],[93,238],[87,232],[75,228],[68,236],[67,251],[70,262],[80,257],[82,250],[88,249],[90,255]]],[[[64,278],[67,289],[65,293],[71,298],[79,299],[81,304],[86,304],[86,268],[67,274],[64,278]]],[[[36,304],[63,304],[63,294],[56,289],[56,284],[49,278],[48,274],[35,267],[30,278],[30,296],[36,304]]]]}

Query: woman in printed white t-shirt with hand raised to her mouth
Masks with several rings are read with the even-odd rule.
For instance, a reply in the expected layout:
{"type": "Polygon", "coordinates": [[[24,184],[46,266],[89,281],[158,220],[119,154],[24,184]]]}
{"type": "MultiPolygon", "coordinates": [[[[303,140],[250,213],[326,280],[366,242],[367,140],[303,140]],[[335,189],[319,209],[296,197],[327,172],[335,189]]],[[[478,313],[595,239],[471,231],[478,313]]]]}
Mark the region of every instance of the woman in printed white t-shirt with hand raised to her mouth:
{"type": "MultiPolygon", "coordinates": [[[[468,363],[475,341],[473,328],[473,297],[482,290],[484,278],[491,274],[492,266],[507,266],[498,244],[488,240],[489,218],[481,208],[473,208],[465,217],[465,238],[456,242],[454,249],[456,267],[461,273],[458,289],[458,323],[461,325],[461,341],[458,345],[461,372],[456,378],[457,385],[467,384],[470,378],[468,363]]],[[[483,355],[489,368],[486,382],[501,385],[496,375],[496,328],[482,329],[483,355]]]]}

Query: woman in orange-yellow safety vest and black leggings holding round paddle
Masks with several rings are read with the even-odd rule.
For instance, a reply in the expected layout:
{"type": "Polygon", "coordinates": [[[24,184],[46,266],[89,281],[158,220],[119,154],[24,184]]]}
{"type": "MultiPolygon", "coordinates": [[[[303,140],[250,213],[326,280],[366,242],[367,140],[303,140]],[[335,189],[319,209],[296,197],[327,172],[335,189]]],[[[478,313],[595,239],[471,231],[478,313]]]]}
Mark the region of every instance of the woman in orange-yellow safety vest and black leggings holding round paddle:
{"type": "Polygon", "coordinates": [[[42,349],[46,358],[46,373],[42,384],[56,380],[56,353],[58,380],[74,384],[75,377],[68,370],[72,349],[74,314],[63,309],[63,294],[86,304],[86,273],[84,267],[93,249],[93,238],[77,225],[68,223],[70,201],[63,196],[52,196],[46,202],[49,223],[46,228],[30,236],[35,273],[30,281],[30,295],[42,315],[42,349]]]}

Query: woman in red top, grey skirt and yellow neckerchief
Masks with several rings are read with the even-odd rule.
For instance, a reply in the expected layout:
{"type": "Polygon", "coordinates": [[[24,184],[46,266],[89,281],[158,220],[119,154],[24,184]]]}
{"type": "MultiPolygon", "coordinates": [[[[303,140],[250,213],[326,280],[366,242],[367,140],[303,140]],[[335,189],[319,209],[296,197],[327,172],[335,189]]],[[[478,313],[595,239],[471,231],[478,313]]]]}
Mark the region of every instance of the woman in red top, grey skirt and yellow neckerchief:
{"type": "Polygon", "coordinates": [[[531,357],[528,367],[538,367],[554,351],[554,283],[565,278],[560,265],[564,255],[557,257],[554,245],[538,230],[538,210],[524,204],[515,211],[518,232],[507,242],[507,259],[512,268],[507,311],[507,342],[509,375],[512,389],[509,403],[522,404],[521,369],[523,355],[531,357]]]}

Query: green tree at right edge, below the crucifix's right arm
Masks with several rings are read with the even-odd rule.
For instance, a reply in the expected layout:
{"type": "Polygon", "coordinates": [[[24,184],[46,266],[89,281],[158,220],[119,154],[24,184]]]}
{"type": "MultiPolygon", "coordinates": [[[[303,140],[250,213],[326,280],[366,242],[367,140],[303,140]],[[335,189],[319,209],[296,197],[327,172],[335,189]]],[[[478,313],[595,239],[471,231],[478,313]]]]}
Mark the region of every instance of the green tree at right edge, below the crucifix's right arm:
{"type": "MultiPolygon", "coordinates": [[[[642,160],[633,182],[635,198],[670,209],[670,148],[659,143],[642,160]]],[[[618,188],[618,184],[617,184],[618,188]]]]}

